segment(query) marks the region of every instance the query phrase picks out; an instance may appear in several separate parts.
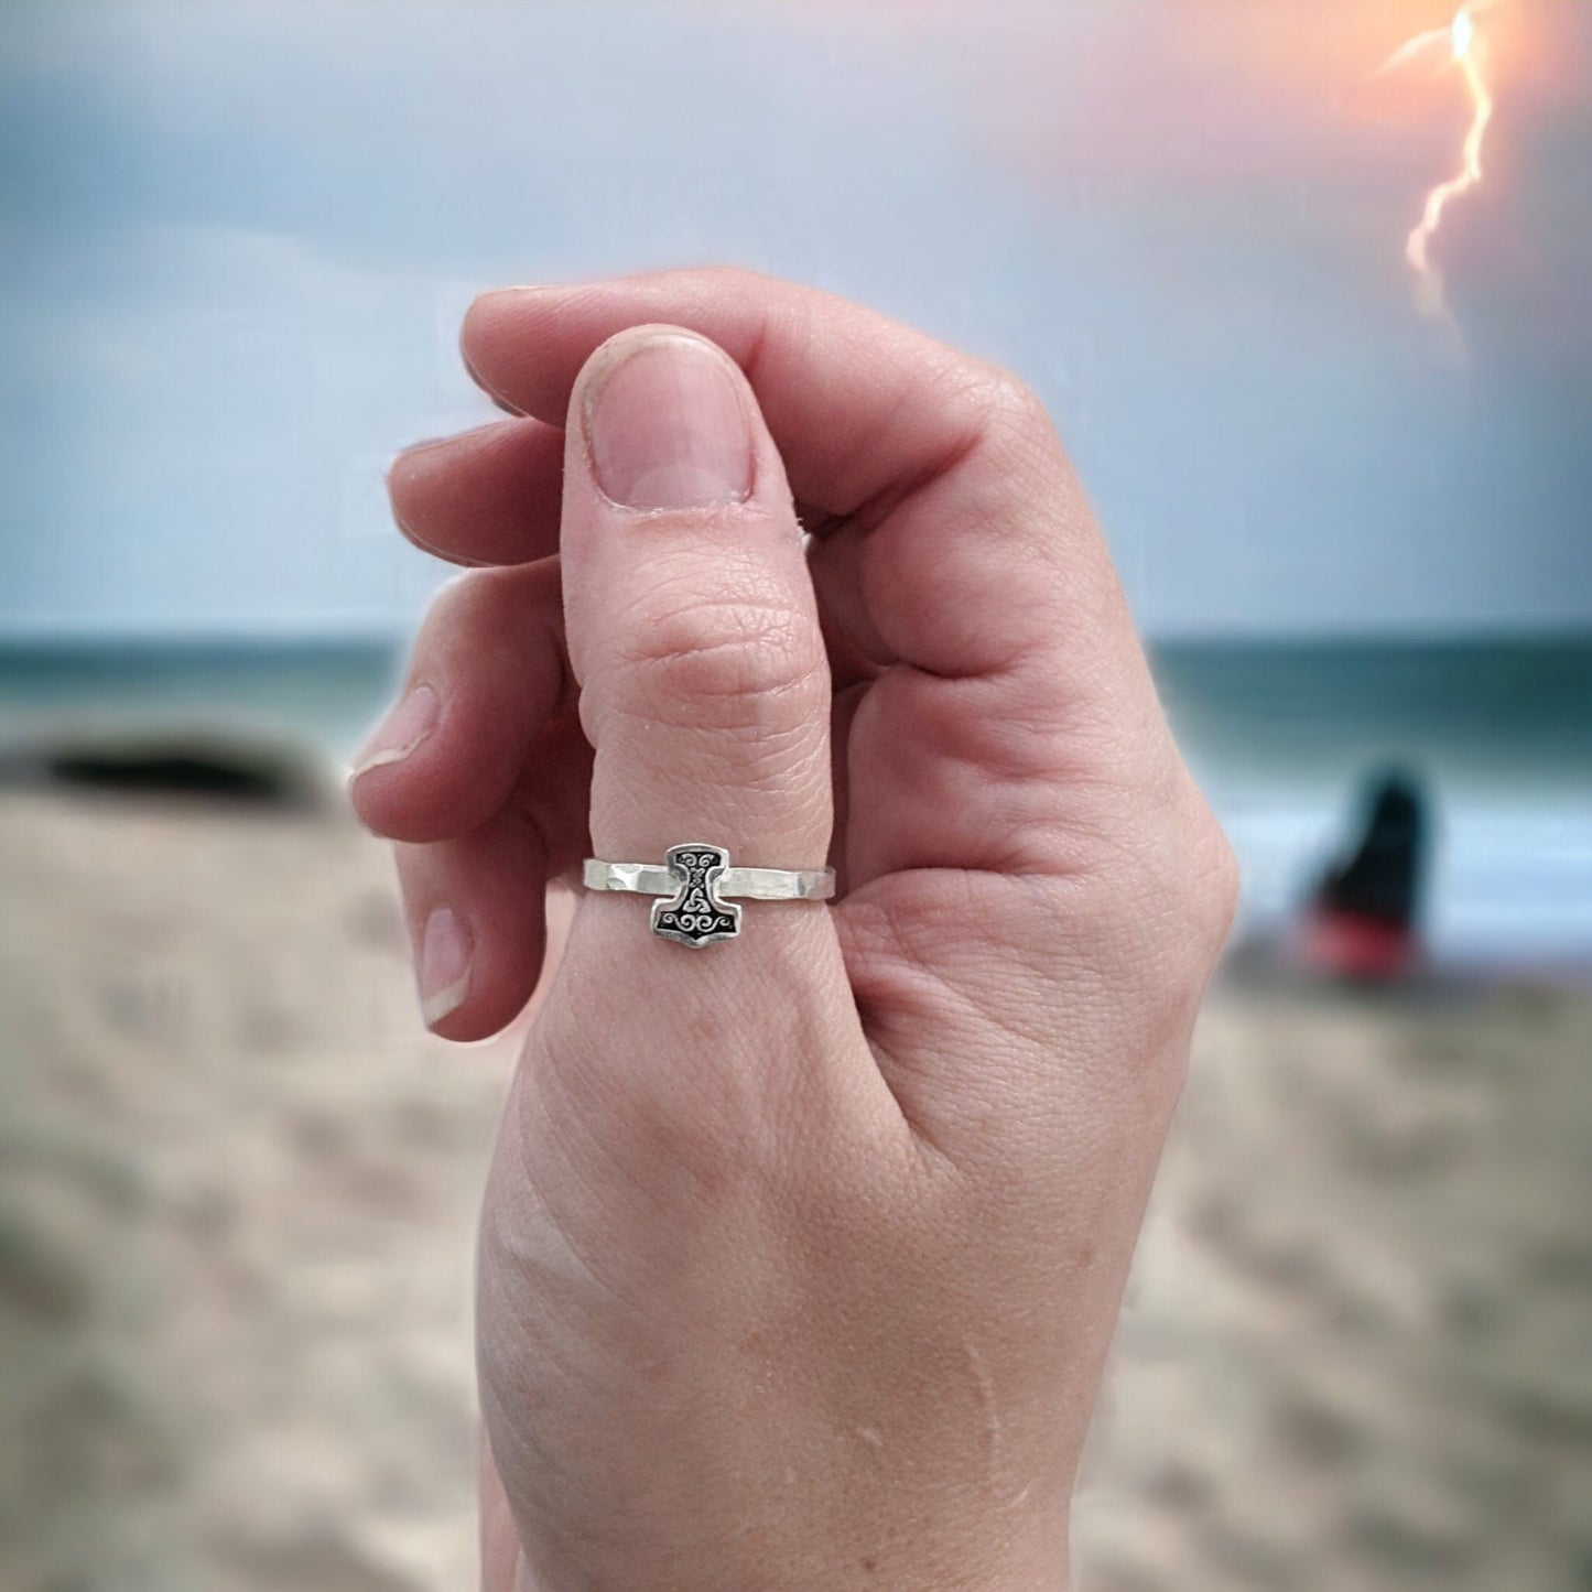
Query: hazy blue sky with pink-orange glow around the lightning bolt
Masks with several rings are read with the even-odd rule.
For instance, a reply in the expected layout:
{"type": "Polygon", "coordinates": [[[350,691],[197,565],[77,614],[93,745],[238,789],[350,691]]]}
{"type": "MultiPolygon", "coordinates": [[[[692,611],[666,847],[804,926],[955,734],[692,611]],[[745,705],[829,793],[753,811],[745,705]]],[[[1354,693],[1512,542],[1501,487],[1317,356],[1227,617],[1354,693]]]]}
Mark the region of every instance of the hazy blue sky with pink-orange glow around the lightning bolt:
{"type": "Polygon", "coordinates": [[[0,22],[0,637],[411,627],[471,295],[726,261],[1001,360],[1153,635],[1592,624],[1592,6],[30,5],[0,22]]]}

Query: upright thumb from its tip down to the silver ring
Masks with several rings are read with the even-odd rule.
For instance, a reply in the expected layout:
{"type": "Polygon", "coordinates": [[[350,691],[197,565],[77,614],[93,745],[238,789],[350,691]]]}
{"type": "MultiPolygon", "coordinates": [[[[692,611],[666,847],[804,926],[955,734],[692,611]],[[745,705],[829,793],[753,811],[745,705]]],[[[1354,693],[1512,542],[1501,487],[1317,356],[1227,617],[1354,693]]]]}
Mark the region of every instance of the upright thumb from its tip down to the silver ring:
{"type": "MultiPolygon", "coordinates": [[[[560,552],[594,853],[662,863],[708,842],[737,868],[823,866],[831,693],[801,527],[751,387],[715,344],[638,326],[587,360],[560,552]]],[[[605,909],[653,938],[634,898],[605,909]]],[[[772,927],[821,909],[748,911],[772,927]]]]}

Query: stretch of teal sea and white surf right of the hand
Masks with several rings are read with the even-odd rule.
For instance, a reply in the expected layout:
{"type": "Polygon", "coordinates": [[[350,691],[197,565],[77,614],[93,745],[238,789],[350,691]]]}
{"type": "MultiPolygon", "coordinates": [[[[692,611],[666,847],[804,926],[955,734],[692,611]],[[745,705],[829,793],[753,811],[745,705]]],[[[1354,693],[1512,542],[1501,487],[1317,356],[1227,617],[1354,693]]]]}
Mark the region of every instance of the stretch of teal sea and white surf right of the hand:
{"type": "Polygon", "coordinates": [[[1399,766],[1434,804],[1433,957],[1592,966],[1592,635],[1173,645],[1156,677],[1239,853],[1240,931],[1290,914],[1399,766]]]}

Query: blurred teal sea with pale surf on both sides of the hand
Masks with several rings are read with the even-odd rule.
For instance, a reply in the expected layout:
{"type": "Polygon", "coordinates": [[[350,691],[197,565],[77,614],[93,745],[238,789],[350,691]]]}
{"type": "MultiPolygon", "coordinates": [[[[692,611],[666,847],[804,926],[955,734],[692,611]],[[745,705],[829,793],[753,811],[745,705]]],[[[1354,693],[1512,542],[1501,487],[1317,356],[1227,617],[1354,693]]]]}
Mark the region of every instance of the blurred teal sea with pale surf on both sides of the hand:
{"type": "MultiPolygon", "coordinates": [[[[1439,963],[1592,966],[1592,634],[1489,642],[1169,643],[1156,680],[1243,871],[1240,933],[1285,920],[1369,771],[1433,796],[1439,963]]],[[[0,743],[201,728],[345,759],[396,643],[0,646],[0,743]]]]}

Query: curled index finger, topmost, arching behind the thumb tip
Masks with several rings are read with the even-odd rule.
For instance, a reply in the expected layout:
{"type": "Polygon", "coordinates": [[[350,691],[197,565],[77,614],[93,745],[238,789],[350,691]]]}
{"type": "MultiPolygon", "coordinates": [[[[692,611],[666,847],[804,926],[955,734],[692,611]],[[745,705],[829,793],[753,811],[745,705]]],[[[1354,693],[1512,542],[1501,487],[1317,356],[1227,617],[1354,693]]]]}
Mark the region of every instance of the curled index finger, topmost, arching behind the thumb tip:
{"type": "Polygon", "coordinates": [[[494,398],[557,423],[592,350],[646,322],[697,331],[745,371],[796,498],[866,543],[831,562],[895,659],[950,677],[1028,659],[1063,696],[1068,677],[1141,677],[1049,419],[984,360],[847,299],[723,269],[487,293],[462,347],[494,398]],[[1059,667],[1062,645],[1086,667],[1059,667]]]}

